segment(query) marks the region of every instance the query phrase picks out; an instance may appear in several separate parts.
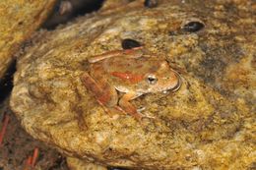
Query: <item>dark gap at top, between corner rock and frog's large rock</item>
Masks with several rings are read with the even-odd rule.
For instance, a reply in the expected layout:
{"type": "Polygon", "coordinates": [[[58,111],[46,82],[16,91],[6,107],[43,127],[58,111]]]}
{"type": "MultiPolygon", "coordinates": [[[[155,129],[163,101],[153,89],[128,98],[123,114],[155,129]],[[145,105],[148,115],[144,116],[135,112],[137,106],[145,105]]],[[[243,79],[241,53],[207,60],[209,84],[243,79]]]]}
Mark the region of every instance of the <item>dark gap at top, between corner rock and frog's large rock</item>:
{"type": "Polygon", "coordinates": [[[52,14],[42,28],[54,29],[60,24],[66,24],[78,16],[97,11],[104,0],[58,0],[52,14]]]}

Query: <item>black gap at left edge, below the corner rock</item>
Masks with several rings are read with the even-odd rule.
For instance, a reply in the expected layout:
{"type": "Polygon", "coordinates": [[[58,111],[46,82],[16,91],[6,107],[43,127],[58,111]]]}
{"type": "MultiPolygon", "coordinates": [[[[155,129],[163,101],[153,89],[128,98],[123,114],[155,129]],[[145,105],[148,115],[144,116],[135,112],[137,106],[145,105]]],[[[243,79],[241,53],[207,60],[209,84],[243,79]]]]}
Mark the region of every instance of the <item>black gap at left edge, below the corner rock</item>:
{"type": "Polygon", "coordinates": [[[13,88],[13,75],[16,72],[16,61],[8,68],[5,76],[0,79],[0,103],[11,93],[13,88]]]}

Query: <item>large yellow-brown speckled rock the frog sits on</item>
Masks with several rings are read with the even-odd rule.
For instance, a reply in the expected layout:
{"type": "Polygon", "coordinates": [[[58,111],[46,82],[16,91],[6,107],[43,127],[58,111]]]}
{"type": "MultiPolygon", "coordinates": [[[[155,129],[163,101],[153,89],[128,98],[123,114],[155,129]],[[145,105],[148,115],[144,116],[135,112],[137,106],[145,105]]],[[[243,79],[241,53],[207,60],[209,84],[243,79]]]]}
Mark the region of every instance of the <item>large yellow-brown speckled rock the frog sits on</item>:
{"type": "MultiPolygon", "coordinates": [[[[253,1],[143,1],[40,32],[19,57],[11,107],[32,137],[85,162],[132,169],[253,169],[253,1]],[[203,28],[187,28],[191,22],[203,28]],[[87,59],[135,39],[182,77],[132,103],[156,117],[107,114],[82,84],[87,59]]],[[[139,72],[139,71],[138,71],[139,72]]]]}

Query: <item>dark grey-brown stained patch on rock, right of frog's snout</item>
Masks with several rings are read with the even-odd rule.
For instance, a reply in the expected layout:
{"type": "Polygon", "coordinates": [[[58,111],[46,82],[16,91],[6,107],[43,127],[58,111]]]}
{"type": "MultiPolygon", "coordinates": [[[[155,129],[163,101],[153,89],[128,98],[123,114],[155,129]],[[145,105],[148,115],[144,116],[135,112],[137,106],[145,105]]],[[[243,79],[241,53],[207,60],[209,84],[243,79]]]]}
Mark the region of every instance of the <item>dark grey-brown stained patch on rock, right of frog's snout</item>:
{"type": "MultiPolygon", "coordinates": [[[[191,71],[196,69],[196,75],[204,80],[205,83],[211,85],[219,92],[226,95],[224,91],[228,91],[224,86],[220,86],[220,83],[224,79],[225,69],[228,65],[239,63],[244,56],[244,51],[238,46],[231,37],[224,39],[224,37],[218,37],[224,45],[211,45],[205,42],[199,42],[200,48],[204,51],[205,56],[199,64],[200,67],[190,68],[191,71]]],[[[189,67],[189,66],[188,66],[189,67]]]]}

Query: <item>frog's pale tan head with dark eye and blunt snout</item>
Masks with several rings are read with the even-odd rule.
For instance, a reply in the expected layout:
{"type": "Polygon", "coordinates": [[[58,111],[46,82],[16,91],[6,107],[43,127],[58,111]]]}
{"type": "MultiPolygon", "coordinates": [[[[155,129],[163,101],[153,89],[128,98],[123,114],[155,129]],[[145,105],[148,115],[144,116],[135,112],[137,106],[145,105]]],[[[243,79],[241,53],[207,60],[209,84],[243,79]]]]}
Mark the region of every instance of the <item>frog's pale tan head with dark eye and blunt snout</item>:
{"type": "Polygon", "coordinates": [[[173,71],[166,61],[160,62],[159,69],[154,73],[145,75],[148,92],[160,92],[177,90],[181,85],[181,79],[177,72],[173,71]]]}

